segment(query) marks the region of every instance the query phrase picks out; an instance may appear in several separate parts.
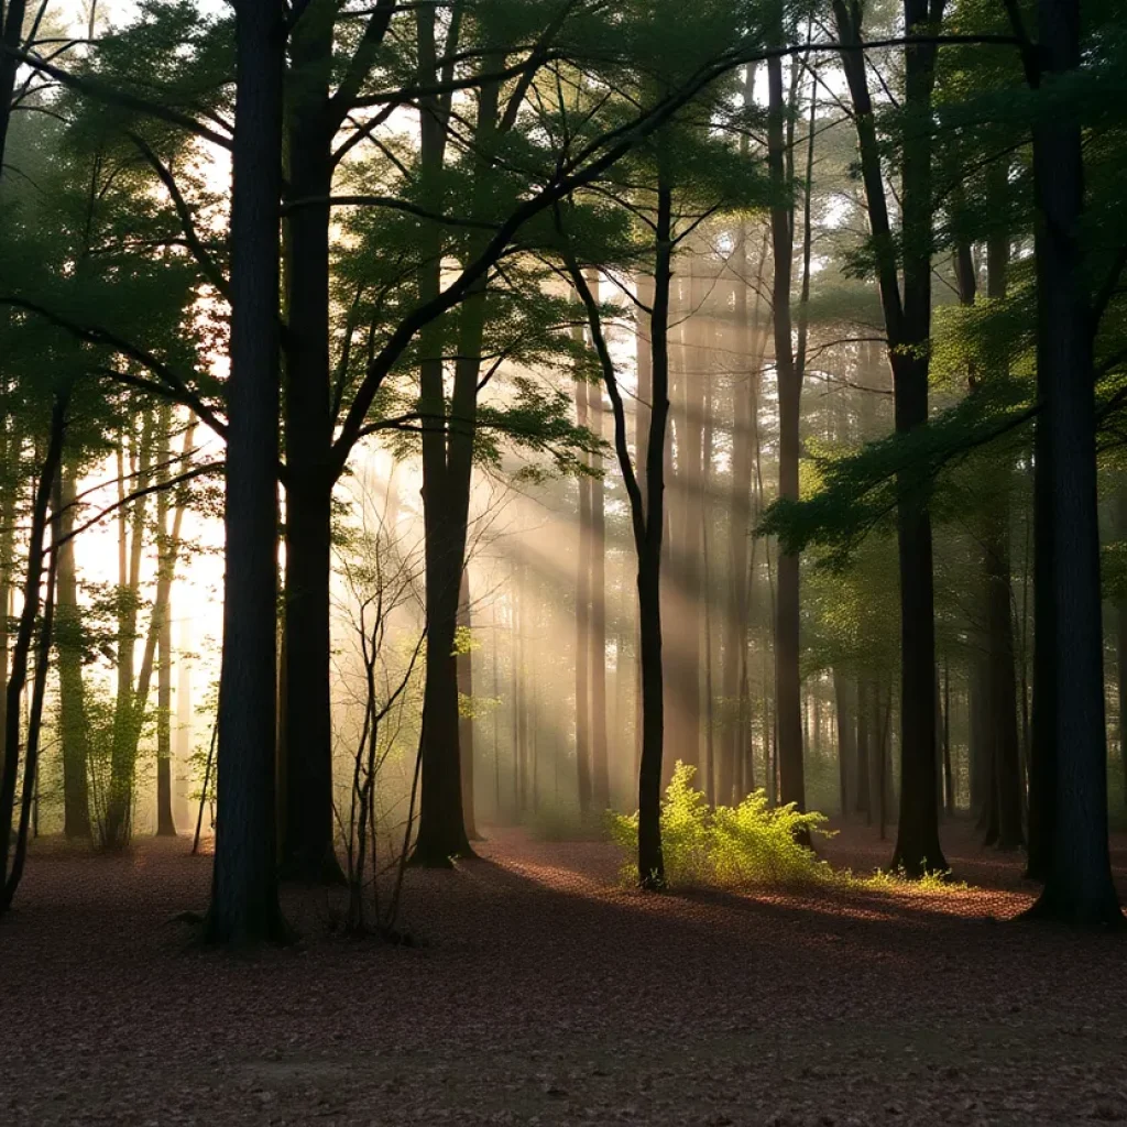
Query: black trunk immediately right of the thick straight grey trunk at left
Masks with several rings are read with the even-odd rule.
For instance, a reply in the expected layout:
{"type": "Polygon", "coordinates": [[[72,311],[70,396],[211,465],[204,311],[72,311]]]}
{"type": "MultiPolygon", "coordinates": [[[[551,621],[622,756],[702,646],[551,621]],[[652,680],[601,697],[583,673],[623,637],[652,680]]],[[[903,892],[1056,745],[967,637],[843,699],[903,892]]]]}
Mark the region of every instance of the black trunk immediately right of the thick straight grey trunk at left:
{"type": "MultiPolygon", "coordinates": [[[[332,189],[329,112],[335,14],[313,0],[290,44],[290,201],[332,189]]],[[[282,876],[340,884],[334,849],[330,585],[332,421],[329,372],[329,206],[307,203],[285,225],[285,788],[282,876]]]]}

